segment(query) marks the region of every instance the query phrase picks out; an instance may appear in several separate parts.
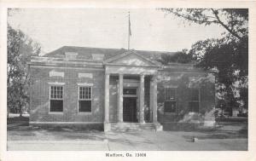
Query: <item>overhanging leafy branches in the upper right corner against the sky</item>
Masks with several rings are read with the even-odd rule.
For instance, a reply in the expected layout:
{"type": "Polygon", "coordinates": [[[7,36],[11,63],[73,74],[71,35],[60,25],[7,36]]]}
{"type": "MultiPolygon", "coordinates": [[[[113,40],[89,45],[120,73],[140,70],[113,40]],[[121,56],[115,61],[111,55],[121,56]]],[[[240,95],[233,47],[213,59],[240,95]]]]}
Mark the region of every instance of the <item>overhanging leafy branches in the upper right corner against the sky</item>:
{"type": "Polygon", "coordinates": [[[161,9],[190,23],[223,26],[241,40],[248,35],[248,9],[161,9]]]}

